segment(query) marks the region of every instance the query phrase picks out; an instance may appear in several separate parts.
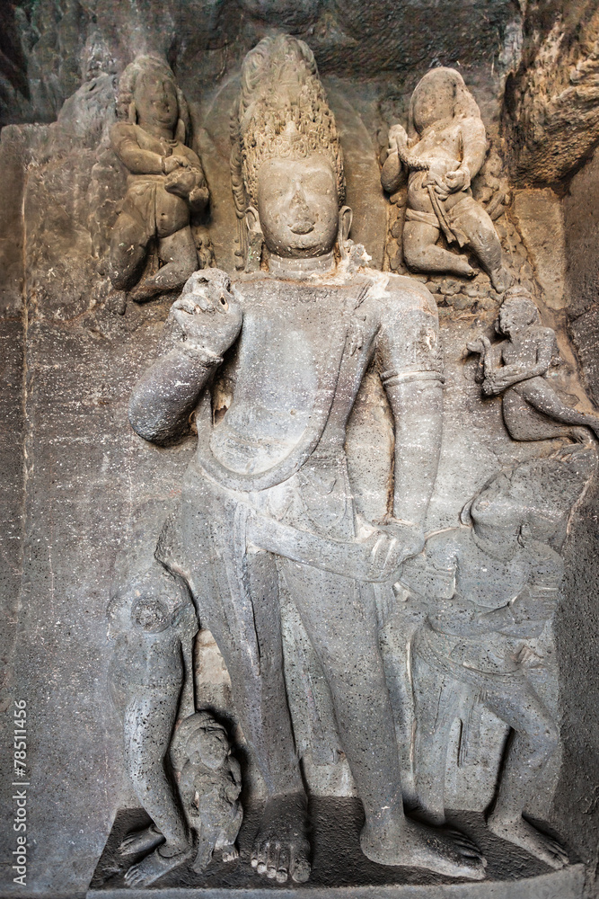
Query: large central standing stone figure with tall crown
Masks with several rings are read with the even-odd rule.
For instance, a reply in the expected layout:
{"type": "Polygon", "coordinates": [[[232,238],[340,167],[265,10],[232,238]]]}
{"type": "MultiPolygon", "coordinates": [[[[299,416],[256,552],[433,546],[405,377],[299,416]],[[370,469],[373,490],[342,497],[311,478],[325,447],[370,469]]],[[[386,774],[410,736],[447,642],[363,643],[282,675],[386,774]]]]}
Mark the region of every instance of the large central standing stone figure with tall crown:
{"type": "Polygon", "coordinates": [[[181,341],[137,383],[129,417],[168,445],[197,412],[197,454],[156,557],[189,584],[216,638],[268,790],[251,863],[279,882],[310,875],[284,579],[330,686],[366,812],[362,849],[380,864],[480,879],[485,862],[465,837],[404,815],[374,601],[374,583],[391,588],[423,546],[442,422],[435,302],[418,282],[355,264],[338,132],[302,41],[266,38],[248,54],[236,126],[235,200],[269,272],[233,286],[214,269],[189,279],[172,307],[181,341]],[[207,387],[225,354],[233,398],[216,422],[207,387]],[[373,361],[395,421],[395,485],[375,523],[356,514],[344,448],[373,361]]]}

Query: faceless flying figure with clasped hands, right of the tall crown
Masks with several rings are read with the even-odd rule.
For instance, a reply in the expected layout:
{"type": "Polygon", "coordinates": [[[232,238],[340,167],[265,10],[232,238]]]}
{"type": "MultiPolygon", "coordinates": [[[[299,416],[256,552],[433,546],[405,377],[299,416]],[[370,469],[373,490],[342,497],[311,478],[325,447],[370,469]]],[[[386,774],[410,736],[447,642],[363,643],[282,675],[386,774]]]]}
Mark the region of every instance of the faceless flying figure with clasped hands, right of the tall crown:
{"type": "Polygon", "coordinates": [[[493,287],[503,292],[510,275],[501,244],[488,212],[471,191],[487,149],[479,107],[462,76],[452,68],[434,68],[412,94],[408,132],[400,124],[389,132],[381,182],[392,193],[408,178],[403,255],[410,269],[475,274],[467,256],[438,245],[443,235],[448,245],[471,250],[493,287]]]}

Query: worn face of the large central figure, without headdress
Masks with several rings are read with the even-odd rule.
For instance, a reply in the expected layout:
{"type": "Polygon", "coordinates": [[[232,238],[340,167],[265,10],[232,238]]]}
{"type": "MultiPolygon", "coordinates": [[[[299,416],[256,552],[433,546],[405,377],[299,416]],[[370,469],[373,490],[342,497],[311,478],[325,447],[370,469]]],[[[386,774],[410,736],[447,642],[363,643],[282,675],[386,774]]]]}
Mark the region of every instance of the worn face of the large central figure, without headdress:
{"type": "Polygon", "coordinates": [[[332,250],[339,225],[337,180],[319,153],[305,159],[269,159],[258,177],[258,214],[271,253],[322,256],[332,250]]]}

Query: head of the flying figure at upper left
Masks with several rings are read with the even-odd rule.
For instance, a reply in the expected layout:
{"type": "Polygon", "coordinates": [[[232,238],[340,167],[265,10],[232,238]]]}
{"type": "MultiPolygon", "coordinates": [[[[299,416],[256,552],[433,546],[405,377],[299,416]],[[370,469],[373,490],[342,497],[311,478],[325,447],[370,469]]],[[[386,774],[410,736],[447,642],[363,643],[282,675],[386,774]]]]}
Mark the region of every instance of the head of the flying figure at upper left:
{"type": "Polygon", "coordinates": [[[119,78],[117,113],[142,128],[168,129],[184,142],[189,127],[187,102],[163,59],[137,57],[119,78]]]}

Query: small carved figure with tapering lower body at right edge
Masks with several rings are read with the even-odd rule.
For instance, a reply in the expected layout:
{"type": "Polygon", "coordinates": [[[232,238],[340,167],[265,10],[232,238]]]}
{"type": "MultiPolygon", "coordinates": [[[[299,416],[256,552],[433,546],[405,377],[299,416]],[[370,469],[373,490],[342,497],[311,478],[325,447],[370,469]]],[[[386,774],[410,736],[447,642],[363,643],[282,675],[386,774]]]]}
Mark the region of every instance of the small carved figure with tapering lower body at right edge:
{"type": "Polygon", "coordinates": [[[517,286],[507,291],[499,309],[497,329],[507,340],[492,344],[484,335],[468,344],[480,353],[476,378],[485,396],[502,396],[503,417],[515,441],[599,436],[599,416],[577,412],[562,403],[547,373],[559,361],[555,332],[543,327],[530,291],[517,286]]]}

